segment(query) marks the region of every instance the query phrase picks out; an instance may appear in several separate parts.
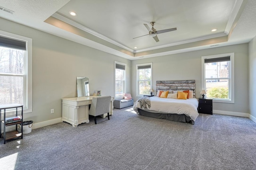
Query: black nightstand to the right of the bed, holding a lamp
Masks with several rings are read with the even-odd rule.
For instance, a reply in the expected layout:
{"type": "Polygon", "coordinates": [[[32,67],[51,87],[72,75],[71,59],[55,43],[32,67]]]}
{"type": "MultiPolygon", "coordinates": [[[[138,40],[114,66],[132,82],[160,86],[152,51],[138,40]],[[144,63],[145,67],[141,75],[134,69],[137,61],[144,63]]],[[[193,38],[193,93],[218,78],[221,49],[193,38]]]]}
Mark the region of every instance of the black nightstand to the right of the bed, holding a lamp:
{"type": "Polygon", "coordinates": [[[210,98],[198,98],[198,113],[212,115],[212,99],[210,98]]]}

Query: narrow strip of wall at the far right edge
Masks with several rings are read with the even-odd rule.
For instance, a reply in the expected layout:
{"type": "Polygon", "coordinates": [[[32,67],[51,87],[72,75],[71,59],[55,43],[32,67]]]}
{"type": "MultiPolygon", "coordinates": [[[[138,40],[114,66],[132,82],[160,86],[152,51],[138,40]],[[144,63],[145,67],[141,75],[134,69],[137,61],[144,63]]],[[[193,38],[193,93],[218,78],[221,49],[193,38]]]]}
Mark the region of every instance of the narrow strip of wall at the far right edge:
{"type": "Polygon", "coordinates": [[[254,94],[256,94],[256,37],[249,43],[249,110],[255,119],[256,98],[254,94]]]}

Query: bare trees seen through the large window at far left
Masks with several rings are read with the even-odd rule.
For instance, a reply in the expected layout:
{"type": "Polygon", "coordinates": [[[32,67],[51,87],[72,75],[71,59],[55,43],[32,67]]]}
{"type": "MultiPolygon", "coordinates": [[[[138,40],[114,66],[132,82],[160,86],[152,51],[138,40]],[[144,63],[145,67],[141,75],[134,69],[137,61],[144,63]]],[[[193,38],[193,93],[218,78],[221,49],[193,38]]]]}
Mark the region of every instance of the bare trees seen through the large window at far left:
{"type": "Polygon", "coordinates": [[[26,51],[0,47],[0,103],[24,104],[26,51]]]}

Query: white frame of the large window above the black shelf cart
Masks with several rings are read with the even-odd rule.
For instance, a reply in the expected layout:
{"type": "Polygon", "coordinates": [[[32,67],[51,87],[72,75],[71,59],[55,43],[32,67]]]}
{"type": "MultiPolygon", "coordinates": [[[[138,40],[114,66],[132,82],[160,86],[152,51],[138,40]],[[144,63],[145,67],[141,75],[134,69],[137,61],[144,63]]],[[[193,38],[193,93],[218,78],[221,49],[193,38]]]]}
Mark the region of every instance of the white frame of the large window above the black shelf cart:
{"type": "MultiPolygon", "coordinates": [[[[23,84],[23,90],[24,90],[24,106],[23,106],[23,113],[29,113],[32,112],[32,39],[28,37],[24,37],[21,35],[16,35],[13,33],[8,33],[5,31],[0,30],[0,36],[10,38],[10,39],[16,39],[20,41],[26,42],[26,55],[24,58],[24,84],[23,84]]],[[[4,75],[4,74],[2,74],[4,75]]],[[[12,74],[9,74],[12,75],[12,74]]],[[[13,74],[13,76],[16,76],[16,74],[13,74]]],[[[9,110],[9,115],[14,114],[14,111],[9,110]]]]}

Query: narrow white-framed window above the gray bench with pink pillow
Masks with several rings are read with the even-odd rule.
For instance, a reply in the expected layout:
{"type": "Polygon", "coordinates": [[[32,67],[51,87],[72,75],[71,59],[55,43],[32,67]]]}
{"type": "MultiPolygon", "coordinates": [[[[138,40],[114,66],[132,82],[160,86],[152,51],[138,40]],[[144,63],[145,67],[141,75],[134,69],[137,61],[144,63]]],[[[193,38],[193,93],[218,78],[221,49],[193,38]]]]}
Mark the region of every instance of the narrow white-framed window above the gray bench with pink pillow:
{"type": "Polygon", "coordinates": [[[126,93],[126,64],[115,61],[115,97],[122,98],[126,93]]]}

